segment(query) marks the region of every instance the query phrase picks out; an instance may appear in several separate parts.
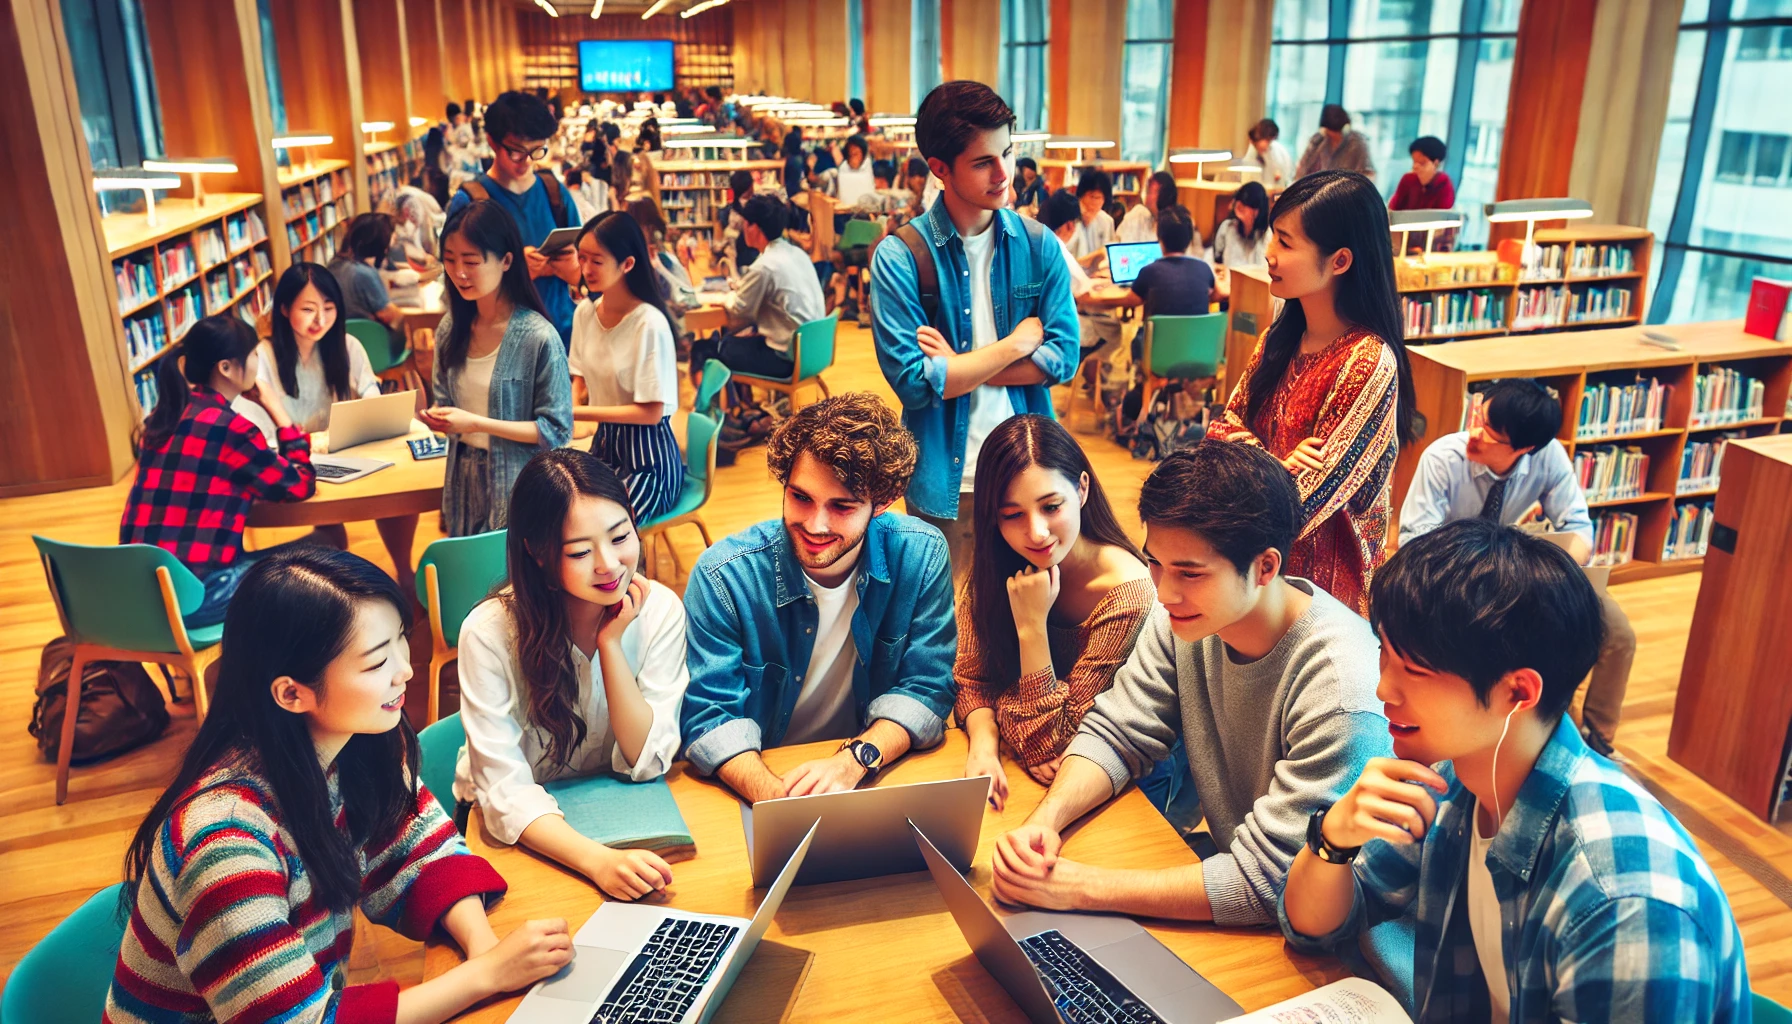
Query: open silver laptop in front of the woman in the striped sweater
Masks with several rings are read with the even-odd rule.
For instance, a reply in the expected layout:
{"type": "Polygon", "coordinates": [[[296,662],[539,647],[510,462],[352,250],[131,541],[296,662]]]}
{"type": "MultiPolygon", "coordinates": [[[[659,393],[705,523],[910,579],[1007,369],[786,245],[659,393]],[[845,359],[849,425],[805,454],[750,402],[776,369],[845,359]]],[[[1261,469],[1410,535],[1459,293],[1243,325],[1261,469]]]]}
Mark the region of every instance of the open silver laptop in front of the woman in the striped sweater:
{"type": "Polygon", "coordinates": [[[513,1024],[704,1024],[772,925],[815,830],[760,902],[753,920],[606,902],[572,936],[572,963],[538,983],[513,1024]]]}

